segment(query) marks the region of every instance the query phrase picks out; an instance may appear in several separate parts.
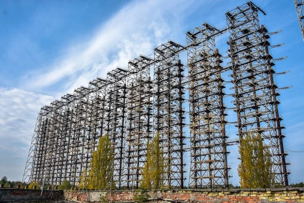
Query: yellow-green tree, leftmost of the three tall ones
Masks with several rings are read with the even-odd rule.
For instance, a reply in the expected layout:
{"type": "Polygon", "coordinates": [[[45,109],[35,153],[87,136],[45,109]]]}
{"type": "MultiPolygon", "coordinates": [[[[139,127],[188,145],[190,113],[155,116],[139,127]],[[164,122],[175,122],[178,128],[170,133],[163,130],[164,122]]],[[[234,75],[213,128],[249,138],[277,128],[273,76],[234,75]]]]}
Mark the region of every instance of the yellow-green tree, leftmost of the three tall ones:
{"type": "Polygon", "coordinates": [[[99,139],[97,149],[93,152],[91,170],[87,176],[87,169],[80,178],[80,188],[109,189],[112,188],[113,148],[107,135],[99,139]]]}

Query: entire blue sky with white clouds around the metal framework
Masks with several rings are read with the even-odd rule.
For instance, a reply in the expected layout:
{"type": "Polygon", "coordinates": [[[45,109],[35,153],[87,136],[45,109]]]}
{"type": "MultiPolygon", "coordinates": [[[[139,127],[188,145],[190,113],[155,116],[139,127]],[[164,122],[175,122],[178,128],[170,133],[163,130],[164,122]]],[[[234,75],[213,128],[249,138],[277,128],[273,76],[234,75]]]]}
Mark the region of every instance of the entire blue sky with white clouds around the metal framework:
{"type": "MultiPolygon", "coordinates": [[[[286,125],[289,182],[304,181],[304,42],[292,1],[253,1],[267,15],[261,24],[270,31],[281,91],[280,114],[286,125]]],[[[176,1],[1,1],[0,2],[0,177],[21,180],[37,113],[40,108],[74,88],[139,54],[149,55],[169,39],[185,45],[185,32],[208,22],[225,28],[224,13],[244,4],[230,0],[176,1]]],[[[218,37],[220,52],[227,50],[227,33],[218,37]]],[[[181,55],[185,59],[185,53],[181,55]]],[[[224,61],[224,64],[227,61],[224,61]]],[[[186,64],[184,60],[184,64],[186,64]]],[[[229,92],[229,88],[226,89],[229,92]]],[[[230,117],[230,121],[234,121],[230,117]]],[[[227,127],[236,138],[234,126],[227,127]]],[[[230,147],[231,179],[238,184],[237,147],[230,147]]]]}

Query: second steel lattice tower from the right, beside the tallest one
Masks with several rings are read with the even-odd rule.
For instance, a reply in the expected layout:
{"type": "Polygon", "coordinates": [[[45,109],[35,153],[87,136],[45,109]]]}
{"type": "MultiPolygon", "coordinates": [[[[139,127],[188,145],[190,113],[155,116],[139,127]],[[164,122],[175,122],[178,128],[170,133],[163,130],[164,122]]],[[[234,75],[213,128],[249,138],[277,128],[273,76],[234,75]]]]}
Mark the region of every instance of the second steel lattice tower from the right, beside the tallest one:
{"type": "Polygon", "coordinates": [[[228,187],[226,106],[221,55],[215,48],[220,31],[209,24],[188,31],[188,82],[192,187],[228,187]]]}

